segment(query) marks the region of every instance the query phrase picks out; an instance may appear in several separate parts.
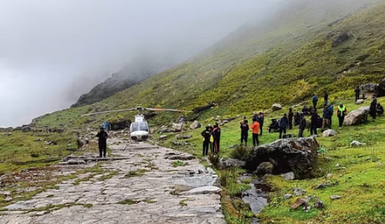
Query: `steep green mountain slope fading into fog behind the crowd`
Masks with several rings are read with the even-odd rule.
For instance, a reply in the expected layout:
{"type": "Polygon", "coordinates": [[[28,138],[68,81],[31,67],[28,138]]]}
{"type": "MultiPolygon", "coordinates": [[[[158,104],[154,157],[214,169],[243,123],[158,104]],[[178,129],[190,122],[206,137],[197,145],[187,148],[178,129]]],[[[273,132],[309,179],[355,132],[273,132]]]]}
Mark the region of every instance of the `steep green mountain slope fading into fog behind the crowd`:
{"type": "MultiPolygon", "coordinates": [[[[35,122],[83,126],[84,122],[100,124],[117,117],[79,117],[85,112],[135,105],[191,110],[208,102],[220,106],[207,116],[238,114],[266,110],[273,102],[295,103],[325,89],[332,97],[350,97],[353,91],[349,88],[379,81],[385,73],[385,4],[367,7],[377,1],[353,1],[336,8],[325,2],[304,4],[291,13],[282,11],[263,24],[245,25],[195,59],[107,100],[35,122]],[[344,36],[347,40],[337,44],[344,36]]],[[[171,118],[170,114],[161,117],[171,118]]]]}

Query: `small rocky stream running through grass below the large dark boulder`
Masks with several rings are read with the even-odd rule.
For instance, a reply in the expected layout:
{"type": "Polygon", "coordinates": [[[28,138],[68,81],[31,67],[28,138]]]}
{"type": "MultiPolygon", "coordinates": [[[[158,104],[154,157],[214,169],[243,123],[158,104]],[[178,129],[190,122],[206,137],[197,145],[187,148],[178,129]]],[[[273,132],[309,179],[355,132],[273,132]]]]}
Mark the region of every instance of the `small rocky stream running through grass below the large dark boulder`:
{"type": "MultiPolygon", "coordinates": [[[[252,178],[252,175],[242,175],[238,181],[242,179],[252,178]]],[[[261,179],[253,179],[250,184],[251,189],[242,192],[242,200],[250,205],[251,211],[258,215],[267,204],[268,187],[261,179]]],[[[251,224],[259,224],[258,218],[252,218],[251,224]]]]}

